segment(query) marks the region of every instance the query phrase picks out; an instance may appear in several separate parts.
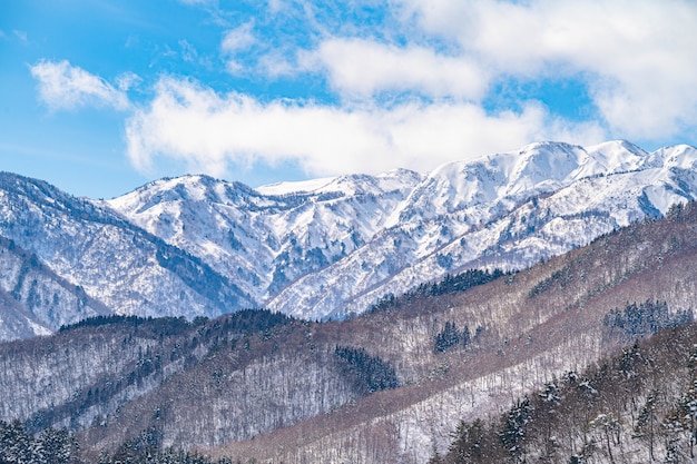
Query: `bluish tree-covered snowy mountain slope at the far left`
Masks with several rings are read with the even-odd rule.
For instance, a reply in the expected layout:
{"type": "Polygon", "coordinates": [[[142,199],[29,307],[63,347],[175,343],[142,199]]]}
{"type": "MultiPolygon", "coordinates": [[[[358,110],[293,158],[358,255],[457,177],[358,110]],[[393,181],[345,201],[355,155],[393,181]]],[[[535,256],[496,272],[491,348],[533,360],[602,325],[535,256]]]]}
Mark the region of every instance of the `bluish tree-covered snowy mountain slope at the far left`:
{"type": "MultiPolygon", "coordinates": [[[[79,287],[67,292],[86,302],[84,310],[53,305],[55,299],[66,303],[59,290],[53,295],[31,276],[6,274],[4,289],[21,287],[12,299],[22,310],[36,315],[37,305],[43,308],[33,320],[35,334],[96,314],[194,317],[253,306],[227,277],[199,258],[166,244],[110,208],[71,197],[40,180],[0,174],[0,236],[33,257],[24,267],[50,274],[63,290],[79,287]],[[35,285],[36,300],[29,295],[35,285]]],[[[6,254],[10,260],[11,255],[6,254]]],[[[21,268],[18,264],[8,266],[21,268]]],[[[0,333],[11,333],[4,322],[0,328],[0,333]]]]}

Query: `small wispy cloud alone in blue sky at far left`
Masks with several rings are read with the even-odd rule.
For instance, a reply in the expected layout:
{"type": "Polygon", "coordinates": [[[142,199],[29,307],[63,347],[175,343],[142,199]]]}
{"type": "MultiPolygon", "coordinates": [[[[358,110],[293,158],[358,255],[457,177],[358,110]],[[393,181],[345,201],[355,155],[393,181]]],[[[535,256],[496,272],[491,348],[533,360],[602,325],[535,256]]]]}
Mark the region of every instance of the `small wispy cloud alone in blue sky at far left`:
{"type": "Polygon", "coordinates": [[[39,98],[55,110],[81,106],[108,106],[119,110],[130,107],[124,91],[66,60],[39,61],[31,67],[31,75],[38,81],[39,98]]]}

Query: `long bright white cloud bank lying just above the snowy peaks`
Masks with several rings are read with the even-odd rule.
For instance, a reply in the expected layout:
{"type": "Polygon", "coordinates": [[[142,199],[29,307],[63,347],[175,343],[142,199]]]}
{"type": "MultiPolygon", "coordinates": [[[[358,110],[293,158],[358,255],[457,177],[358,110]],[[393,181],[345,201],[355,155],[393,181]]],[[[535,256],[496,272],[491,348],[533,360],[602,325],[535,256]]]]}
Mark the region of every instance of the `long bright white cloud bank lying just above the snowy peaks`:
{"type": "Polygon", "coordinates": [[[522,113],[487,115],[471,103],[404,103],[335,108],[287,101],[261,103],[243,95],[220,96],[198,83],[164,78],[157,96],[127,122],[128,156],[149,170],[158,157],[222,176],[229,164],[293,160],[310,175],[421,171],[532,140],[603,139],[593,126],[569,127],[539,106],[522,113]]]}

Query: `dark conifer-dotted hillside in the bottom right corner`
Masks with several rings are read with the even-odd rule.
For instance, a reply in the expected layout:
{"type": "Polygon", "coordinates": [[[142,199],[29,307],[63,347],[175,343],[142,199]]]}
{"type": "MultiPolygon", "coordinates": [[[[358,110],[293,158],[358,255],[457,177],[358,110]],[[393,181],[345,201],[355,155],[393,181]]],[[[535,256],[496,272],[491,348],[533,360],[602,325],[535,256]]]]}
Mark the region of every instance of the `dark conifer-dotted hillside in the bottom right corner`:
{"type": "Polygon", "coordinates": [[[462,421],[430,464],[691,463],[697,456],[697,325],[550,378],[500,416],[462,421]]]}

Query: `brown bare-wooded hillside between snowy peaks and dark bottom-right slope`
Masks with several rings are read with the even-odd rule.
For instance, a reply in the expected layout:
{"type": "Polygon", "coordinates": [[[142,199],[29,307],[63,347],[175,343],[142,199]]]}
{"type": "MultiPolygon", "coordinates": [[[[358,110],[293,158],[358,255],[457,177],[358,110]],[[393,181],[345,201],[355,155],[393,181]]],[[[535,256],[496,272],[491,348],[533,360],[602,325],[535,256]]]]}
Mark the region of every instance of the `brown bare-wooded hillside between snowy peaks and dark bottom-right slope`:
{"type": "Polygon", "coordinates": [[[423,463],[461,419],[690,320],[695,259],[689,204],[529,270],[467,292],[450,278],[344,322],[96,319],[0,344],[0,419],[77,431],[92,461],[146,434],[243,462],[423,463]]]}

